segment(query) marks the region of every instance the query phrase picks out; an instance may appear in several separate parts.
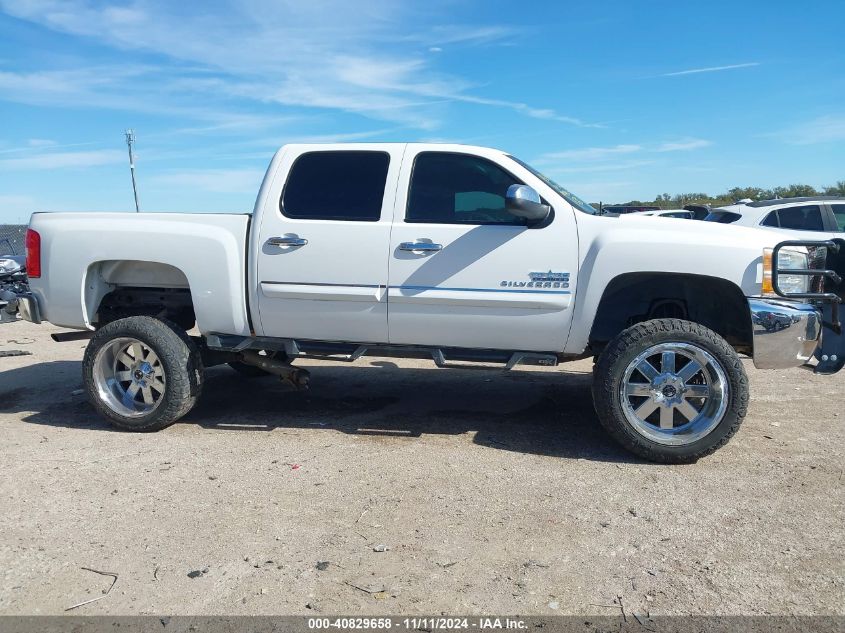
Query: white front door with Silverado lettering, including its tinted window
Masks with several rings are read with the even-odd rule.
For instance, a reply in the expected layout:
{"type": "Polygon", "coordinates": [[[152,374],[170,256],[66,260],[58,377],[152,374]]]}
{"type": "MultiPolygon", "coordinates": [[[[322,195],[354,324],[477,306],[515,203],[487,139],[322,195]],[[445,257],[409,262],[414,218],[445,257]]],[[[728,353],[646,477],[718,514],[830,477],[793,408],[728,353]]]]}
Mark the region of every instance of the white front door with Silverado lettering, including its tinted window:
{"type": "Polygon", "coordinates": [[[390,243],[390,342],[563,350],[578,269],[574,211],[515,160],[455,147],[406,150],[390,243]],[[551,221],[528,227],[508,213],[513,184],[540,192],[551,221]]]}

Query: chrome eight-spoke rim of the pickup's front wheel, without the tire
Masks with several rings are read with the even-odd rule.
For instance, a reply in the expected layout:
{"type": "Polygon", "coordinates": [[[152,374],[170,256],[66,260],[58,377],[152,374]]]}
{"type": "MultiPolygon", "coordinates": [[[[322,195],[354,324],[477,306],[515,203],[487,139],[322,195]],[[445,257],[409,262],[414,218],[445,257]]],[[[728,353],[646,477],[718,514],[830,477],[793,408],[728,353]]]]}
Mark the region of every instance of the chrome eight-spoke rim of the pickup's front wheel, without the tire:
{"type": "Polygon", "coordinates": [[[661,343],[628,364],[620,396],[634,430],[658,444],[680,446],[719,425],[729,389],[712,354],[690,343],[661,343]]]}

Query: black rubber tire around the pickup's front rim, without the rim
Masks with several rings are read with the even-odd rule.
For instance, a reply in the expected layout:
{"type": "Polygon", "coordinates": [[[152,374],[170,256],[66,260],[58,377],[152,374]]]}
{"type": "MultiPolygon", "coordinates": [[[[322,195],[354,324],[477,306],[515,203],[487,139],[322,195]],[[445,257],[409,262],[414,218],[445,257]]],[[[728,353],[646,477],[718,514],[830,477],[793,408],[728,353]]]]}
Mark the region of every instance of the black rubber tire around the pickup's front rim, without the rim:
{"type": "Polygon", "coordinates": [[[632,453],[666,464],[691,463],[726,444],[739,429],[748,410],[748,376],[736,351],[712,330],[681,319],[654,319],[623,330],[604,348],[594,368],[593,405],[605,430],[632,453]],[[620,394],[628,365],[653,345],[671,342],[692,343],[709,352],[729,386],[722,420],[706,436],[681,446],[659,444],[638,433],[625,417],[620,394]]]}

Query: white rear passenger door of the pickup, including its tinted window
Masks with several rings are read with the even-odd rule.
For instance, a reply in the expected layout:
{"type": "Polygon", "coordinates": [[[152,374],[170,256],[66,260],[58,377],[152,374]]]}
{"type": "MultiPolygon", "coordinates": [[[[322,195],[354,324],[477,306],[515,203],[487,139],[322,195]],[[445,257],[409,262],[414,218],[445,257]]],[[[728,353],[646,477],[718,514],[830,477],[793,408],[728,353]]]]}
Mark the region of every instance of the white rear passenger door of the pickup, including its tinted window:
{"type": "Polygon", "coordinates": [[[404,145],[291,146],[265,196],[256,264],[264,336],[387,342],[387,263],[404,145]]]}

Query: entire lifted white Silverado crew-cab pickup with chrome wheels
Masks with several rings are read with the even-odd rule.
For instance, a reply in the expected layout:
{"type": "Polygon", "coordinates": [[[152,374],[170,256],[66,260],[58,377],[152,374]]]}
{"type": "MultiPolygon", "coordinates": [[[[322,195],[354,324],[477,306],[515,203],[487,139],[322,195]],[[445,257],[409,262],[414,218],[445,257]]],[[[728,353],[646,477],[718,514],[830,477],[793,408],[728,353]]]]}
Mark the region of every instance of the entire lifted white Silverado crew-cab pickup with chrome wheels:
{"type": "Polygon", "coordinates": [[[125,429],[178,420],[216,364],[303,386],[302,357],[594,357],[607,431],[688,462],[745,416],[739,354],[818,373],[845,363],[845,242],[778,240],[599,216],[493,149],[287,145],[251,216],[34,214],[31,294],[9,306],[85,331],[66,338],[91,339],[88,396],[125,429]]]}

